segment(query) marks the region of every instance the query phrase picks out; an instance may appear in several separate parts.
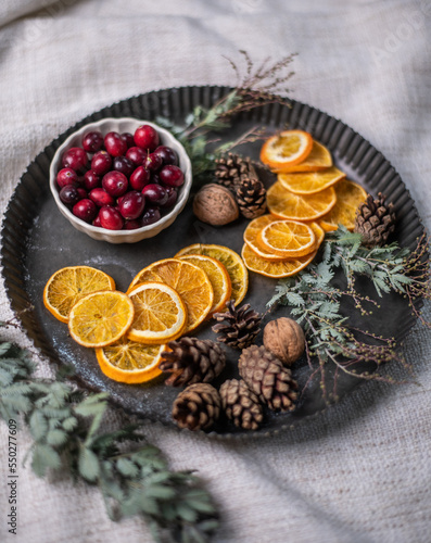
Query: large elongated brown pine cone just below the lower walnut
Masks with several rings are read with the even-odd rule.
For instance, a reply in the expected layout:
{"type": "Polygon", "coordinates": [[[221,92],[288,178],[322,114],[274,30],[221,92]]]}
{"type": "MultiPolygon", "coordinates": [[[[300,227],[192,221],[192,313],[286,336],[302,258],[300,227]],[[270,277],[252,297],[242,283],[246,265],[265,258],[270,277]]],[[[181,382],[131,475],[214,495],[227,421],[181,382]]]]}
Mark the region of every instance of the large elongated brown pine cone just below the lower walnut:
{"type": "Polygon", "coordinates": [[[242,351],[239,370],[250,389],[270,409],[294,409],[297,383],[292,379],[291,370],[263,345],[242,351]]]}

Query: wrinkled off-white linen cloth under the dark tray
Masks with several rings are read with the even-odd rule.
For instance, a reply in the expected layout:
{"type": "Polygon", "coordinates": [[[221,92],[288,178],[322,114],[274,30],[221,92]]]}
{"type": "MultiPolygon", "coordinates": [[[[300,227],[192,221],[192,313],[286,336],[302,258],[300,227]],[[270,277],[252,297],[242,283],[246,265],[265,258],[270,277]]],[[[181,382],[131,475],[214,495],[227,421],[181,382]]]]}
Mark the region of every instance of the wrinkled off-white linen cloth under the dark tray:
{"type": "MultiPolygon", "coordinates": [[[[1,213],[27,164],[72,124],[152,89],[234,85],[224,56],[241,63],[245,49],[256,62],[297,52],[291,96],[371,141],[430,228],[430,23],[424,0],[2,0],[1,213]]],[[[1,288],[0,318],[11,317],[1,288]]],[[[1,337],[31,348],[20,330],[1,337]]],[[[238,443],[157,426],[145,433],[173,468],[205,481],[223,517],[217,543],[428,543],[430,333],[417,326],[404,351],[415,383],[360,387],[290,433],[238,443]]],[[[7,439],[1,422],[0,541],[152,541],[140,519],[112,523],[98,490],[40,480],[28,467],[20,468],[17,536],[9,534],[7,439]]],[[[21,432],[20,462],[29,444],[21,432]]]]}

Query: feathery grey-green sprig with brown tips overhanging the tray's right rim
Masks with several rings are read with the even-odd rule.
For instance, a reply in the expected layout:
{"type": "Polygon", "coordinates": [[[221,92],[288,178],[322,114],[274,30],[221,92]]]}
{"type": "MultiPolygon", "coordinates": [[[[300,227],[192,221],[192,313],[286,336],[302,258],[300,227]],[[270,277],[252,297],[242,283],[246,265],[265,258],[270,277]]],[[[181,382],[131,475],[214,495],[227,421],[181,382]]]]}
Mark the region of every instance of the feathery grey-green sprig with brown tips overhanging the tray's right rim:
{"type": "Polygon", "coordinates": [[[413,252],[400,248],[397,243],[367,249],[362,244],[360,233],[339,226],[324,242],[320,262],[312,263],[296,276],[279,281],[268,306],[289,305],[292,317],[303,325],[307,338],[307,361],[314,368],[309,380],[320,372],[326,400],[330,395],[337,399],[340,371],[363,379],[394,382],[392,377],[379,370],[357,370],[358,364],[373,363],[379,368],[383,363],[397,359],[408,367],[393,338],[352,328],[348,317],[341,312],[341,303],[348,298],[362,315],[372,313],[378,302],[359,293],[355,285],[356,278],[364,276],[371,280],[378,298],[396,292],[408,298],[411,310],[417,313],[416,299],[430,299],[428,244],[427,238],[422,237],[413,252]],[[338,270],[343,272],[345,288],[334,286],[333,278],[338,270]],[[317,368],[313,366],[314,357],[318,361],[317,368]],[[326,380],[328,363],[335,365],[331,394],[326,380]]]}

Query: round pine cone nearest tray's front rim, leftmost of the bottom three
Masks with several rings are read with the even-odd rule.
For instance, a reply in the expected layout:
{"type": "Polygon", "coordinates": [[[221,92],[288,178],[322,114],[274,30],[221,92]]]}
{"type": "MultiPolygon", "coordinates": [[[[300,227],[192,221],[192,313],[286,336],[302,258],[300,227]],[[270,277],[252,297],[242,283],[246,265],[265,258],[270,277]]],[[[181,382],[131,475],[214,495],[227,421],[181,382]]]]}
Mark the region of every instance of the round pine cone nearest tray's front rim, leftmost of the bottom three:
{"type": "Polygon", "coordinates": [[[173,417],[180,428],[207,430],[220,415],[220,395],[212,384],[190,384],[178,394],[173,406],[173,417]]]}

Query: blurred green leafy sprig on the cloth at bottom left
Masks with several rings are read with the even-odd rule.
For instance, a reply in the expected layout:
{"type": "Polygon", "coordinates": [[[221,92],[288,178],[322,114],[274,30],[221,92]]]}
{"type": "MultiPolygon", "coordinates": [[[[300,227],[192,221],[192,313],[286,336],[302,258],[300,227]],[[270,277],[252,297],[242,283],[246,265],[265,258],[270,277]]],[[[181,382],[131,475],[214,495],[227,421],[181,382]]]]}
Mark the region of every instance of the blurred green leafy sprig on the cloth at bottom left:
{"type": "Polygon", "coordinates": [[[110,518],[142,515],[155,541],[166,530],[172,541],[208,541],[217,512],[191,471],[170,471],[156,447],[142,444],[137,426],[104,432],[107,394],[35,378],[35,369],[27,351],[0,342],[0,416],[28,426],[37,476],[67,470],[97,485],[110,518]]]}

